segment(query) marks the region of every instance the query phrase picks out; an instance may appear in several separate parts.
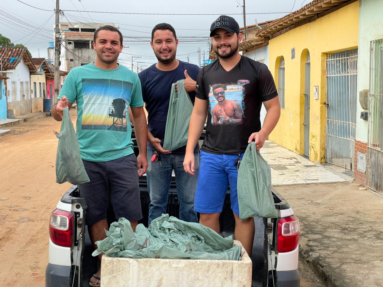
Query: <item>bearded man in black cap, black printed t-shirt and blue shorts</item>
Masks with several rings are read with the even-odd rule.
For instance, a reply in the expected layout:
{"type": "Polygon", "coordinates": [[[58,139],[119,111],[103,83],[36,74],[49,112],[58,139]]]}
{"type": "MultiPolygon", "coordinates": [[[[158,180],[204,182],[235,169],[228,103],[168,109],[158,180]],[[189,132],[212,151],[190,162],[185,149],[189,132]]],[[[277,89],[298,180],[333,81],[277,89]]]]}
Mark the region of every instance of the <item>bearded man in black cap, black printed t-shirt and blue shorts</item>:
{"type": "Polygon", "coordinates": [[[194,208],[200,212],[200,223],[219,233],[219,214],[230,185],[231,208],[236,220],[234,236],[250,255],[254,220],[239,221],[237,164],[248,143],[255,141],[259,150],[277,125],[278,93],[267,66],[239,54],[242,33],[234,18],[220,16],[211,25],[210,36],[219,60],[198,73],[183,167],[185,172],[194,174],[193,149],[207,116],[194,208]],[[267,114],[261,129],[262,102],[267,114]]]}

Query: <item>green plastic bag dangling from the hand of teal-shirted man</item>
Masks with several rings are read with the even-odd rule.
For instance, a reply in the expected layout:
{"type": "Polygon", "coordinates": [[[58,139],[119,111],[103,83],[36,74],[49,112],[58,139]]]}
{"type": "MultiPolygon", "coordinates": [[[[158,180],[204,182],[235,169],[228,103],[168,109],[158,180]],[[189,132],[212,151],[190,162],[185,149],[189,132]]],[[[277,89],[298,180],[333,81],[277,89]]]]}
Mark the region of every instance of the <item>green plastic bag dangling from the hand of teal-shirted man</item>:
{"type": "Polygon", "coordinates": [[[63,109],[60,133],[54,132],[59,139],[56,155],[56,182],[68,181],[73,185],[89,181],[80,156],[80,146],[76,132],[70,120],[69,109],[63,109]]]}

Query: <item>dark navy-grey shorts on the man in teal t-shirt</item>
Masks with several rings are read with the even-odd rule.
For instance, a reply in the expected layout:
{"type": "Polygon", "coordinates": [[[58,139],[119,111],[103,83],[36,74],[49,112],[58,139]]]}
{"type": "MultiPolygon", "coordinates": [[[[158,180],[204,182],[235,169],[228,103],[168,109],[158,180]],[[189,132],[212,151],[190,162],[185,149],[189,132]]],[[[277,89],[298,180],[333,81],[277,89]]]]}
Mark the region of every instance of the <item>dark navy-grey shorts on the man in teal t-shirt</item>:
{"type": "Polygon", "coordinates": [[[85,198],[85,223],[92,225],[106,218],[109,201],[116,219],[129,221],[142,218],[137,158],[134,153],[108,162],[82,160],[90,181],[79,185],[85,198]]]}

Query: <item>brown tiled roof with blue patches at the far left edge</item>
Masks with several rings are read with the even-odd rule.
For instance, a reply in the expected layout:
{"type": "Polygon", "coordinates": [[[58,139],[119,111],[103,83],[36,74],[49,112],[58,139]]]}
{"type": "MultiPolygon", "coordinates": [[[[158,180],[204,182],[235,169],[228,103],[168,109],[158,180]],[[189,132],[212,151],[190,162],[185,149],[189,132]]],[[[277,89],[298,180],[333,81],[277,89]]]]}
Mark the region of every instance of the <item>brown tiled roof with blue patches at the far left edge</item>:
{"type": "Polygon", "coordinates": [[[24,47],[0,48],[0,56],[2,59],[3,70],[15,69],[21,62],[21,59],[23,59],[24,63],[28,66],[29,71],[36,71],[36,68],[24,47]]]}

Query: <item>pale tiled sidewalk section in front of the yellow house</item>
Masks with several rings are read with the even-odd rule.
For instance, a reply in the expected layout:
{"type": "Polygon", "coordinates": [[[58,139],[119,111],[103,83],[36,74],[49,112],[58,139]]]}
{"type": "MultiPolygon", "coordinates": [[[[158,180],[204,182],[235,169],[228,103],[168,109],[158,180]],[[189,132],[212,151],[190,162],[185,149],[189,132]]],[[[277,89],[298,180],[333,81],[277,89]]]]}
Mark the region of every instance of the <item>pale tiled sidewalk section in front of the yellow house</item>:
{"type": "Polygon", "coordinates": [[[267,140],[261,148],[262,157],[271,167],[272,185],[352,181],[354,173],[331,164],[317,165],[267,140]]]}

